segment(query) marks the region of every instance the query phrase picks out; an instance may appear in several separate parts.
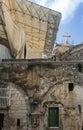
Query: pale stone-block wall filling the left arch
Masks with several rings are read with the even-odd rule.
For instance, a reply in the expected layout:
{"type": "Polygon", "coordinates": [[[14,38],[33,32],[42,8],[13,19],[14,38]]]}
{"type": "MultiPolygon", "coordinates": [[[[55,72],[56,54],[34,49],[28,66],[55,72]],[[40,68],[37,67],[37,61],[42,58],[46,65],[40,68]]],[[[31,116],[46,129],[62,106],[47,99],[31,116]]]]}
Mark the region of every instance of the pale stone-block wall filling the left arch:
{"type": "MultiPolygon", "coordinates": [[[[27,130],[27,97],[23,90],[9,83],[10,106],[4,113],[4,130],[27,130]]],[[[0,111],[1,113],[1,111],[0,111]]]]}

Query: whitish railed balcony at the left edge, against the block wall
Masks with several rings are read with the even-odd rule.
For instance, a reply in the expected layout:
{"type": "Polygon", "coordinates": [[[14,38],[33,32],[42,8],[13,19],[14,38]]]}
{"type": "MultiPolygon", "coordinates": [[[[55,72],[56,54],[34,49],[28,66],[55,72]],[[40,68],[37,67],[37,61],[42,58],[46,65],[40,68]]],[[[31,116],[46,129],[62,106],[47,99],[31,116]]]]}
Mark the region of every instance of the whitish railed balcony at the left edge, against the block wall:
{"type": "Polygon", "coordinates": [[[0,109],[10,106],[10,89],[9,87],[0,88],[0,109]]]}

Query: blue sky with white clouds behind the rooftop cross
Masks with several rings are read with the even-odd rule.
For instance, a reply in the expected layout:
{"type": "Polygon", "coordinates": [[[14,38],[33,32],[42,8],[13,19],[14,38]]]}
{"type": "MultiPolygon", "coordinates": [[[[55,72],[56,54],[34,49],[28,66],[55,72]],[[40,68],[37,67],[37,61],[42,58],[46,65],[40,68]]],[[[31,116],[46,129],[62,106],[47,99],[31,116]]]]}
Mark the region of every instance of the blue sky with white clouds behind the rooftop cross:
{"type": "Polygon", "coordinates": [[[62,14],[57,43],[64,43],[63,35],[68,33],[70,45],[83,42],[83,0],[29,0],[39,5],[48,7],[62,14]]]}

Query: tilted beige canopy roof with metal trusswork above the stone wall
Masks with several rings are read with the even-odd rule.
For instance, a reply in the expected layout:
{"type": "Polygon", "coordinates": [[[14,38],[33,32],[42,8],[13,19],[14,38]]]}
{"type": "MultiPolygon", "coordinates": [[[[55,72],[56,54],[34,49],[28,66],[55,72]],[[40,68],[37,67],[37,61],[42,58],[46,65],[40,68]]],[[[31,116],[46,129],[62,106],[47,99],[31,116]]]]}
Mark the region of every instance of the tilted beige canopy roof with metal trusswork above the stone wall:
{"type": "MultiPolygon", "coordinates": [[[[27,0],[2,0],[14,23],[26,34],[28,56],[51,54],[58,31],[61,13],[27,0]]],[[[7,40],[5,23],[0,19],[0,39],[7,40]]]]}

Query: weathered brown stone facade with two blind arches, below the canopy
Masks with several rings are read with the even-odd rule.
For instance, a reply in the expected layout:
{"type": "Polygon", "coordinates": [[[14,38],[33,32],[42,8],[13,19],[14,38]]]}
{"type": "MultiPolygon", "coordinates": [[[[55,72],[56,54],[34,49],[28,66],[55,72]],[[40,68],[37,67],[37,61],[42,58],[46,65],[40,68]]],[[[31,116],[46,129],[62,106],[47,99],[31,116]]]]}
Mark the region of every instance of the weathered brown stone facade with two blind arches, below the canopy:
{"type": "Polygon", "coordinates": [[[1,63],[0,88],[10,89],[10,105],[0,108],[4,114],[1,130],[82,130],[83,71],[79,72],[78,64],[51,60],[1,63]],[[59,109],[57,127],[48,127],[49,108],[59,109]]]}

